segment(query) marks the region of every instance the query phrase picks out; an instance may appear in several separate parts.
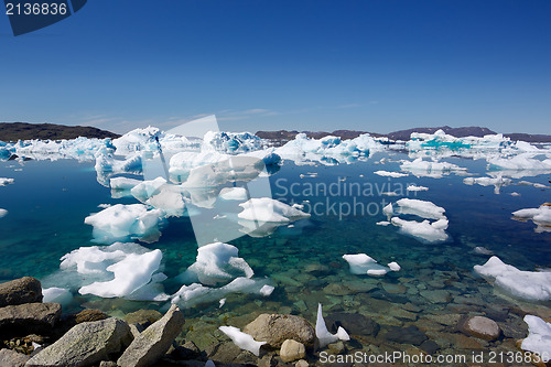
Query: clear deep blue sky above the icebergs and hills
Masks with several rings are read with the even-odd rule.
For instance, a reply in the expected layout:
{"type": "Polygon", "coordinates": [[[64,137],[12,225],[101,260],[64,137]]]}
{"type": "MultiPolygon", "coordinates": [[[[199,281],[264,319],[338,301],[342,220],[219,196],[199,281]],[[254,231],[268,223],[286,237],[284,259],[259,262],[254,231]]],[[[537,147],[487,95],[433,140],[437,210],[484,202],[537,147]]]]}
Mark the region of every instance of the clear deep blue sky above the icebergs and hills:
{"type": "Polygon", "coordinates": [[[550,40],[548,0],[90,0],[0,14],[0,121],[551,133],[550,40]]]}

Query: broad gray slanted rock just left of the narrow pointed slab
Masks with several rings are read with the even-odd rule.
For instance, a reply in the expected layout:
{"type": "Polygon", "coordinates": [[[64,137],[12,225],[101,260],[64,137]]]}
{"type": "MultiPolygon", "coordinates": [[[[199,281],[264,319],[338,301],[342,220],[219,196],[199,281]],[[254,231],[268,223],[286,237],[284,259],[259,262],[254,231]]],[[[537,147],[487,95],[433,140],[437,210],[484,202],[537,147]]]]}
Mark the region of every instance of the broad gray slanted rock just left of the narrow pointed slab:
{"type": "Polygon", "coordinates": [[[109,355],[125,348],[132,335],[122,320],[82,323],[73,326],[57,342],[44,348],[25,367],[85,367],[108,360],[109,355]]]}

